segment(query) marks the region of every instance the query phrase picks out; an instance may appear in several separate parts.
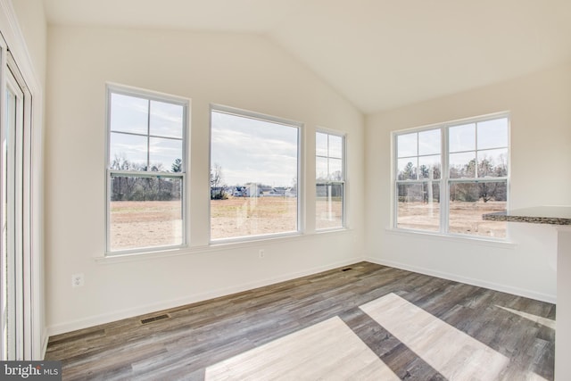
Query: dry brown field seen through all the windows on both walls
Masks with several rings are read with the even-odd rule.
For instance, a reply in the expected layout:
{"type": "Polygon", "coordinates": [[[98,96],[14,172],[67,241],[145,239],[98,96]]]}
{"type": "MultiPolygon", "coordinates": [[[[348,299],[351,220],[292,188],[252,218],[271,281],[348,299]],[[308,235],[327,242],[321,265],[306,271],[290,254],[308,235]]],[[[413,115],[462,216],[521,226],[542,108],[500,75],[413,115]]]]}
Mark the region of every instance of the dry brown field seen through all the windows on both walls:
{"type": "MultiPolygon", "coordinates": [[[[112,250],[182,243],[179,201],[112,202],[112,250]]],[[[316,203],[316,228],[339,228],[342,203],[316,203]]],[[[503,211],[506,203],[451,203],[451,232],[478,236],[506,235],[506,224],[484,221],[482,214],[503,211]]],[[[400,203],[399,228],[437,230],[438,204],[400,203]]],[[[208,223],[206,221],[205,223],[208,223]]],[[[294,197],[230,197],[211,200],[211,239],[260,236],[297,230],[294,197]]]]}

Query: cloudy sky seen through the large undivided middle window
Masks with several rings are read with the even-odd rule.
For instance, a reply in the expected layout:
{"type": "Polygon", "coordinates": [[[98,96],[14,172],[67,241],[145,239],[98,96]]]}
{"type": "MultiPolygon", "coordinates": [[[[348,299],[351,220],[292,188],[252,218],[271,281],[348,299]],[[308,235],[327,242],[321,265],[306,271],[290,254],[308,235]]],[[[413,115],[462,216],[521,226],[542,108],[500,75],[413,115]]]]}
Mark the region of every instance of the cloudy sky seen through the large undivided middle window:
{"type": "Polygon", "coordinates": [[[299,128],[212,112],[211,166],[222,184],[292,186],[297,178],[299,128]]]}

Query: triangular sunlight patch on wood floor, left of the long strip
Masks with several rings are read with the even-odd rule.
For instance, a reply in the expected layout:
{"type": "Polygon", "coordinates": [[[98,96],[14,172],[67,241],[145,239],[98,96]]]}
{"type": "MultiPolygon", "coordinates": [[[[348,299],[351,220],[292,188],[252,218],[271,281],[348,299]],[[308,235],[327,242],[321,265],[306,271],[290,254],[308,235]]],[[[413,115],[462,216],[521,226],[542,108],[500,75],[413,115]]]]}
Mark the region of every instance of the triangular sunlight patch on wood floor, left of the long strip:
{"type": "Polygon", "coordinates": [[[211,380],[399,380],[338,317],[214,364],[211,380]]]}

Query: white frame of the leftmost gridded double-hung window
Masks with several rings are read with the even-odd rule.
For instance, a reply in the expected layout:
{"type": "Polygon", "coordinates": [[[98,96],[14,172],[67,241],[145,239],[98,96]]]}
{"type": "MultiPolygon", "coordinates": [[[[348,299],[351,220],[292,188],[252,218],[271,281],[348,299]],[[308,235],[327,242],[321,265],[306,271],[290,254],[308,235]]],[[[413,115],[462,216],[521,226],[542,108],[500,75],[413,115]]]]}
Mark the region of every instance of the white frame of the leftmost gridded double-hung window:
{"type": "MultiPolygon", "coordinates": [[[[105,144],[105,256],[133,254],[133,253],[153,253],[165,250],[181,249],[187,247],[188,244],[188,219],[186,213],[187,203],[187,185],[186,178],[188,177],[188,123],[190,112],[190,100],[174,95],[166,95],[151,90],[140,89],[136,87],[122,86],[118,84],[108,83],[106,85],[106,144],[105,144]],[[111,169],[111,98],[112,94],[135,96],[144,98],[149,101],[157,101],[167,104],[178,104],[183,107],[183,131],[182,131],[182,170],[180,172],[167,172],[167,171],[152,171],[147,170],[112,170],[111,169]],[[181,208],[182,208],[182,243],[172,245],[157,245],[151,247],[141,247],[127,250],[112,250],[111,248],[111,184],[112,176],[133,176],[137,178],[180,178],[181,181],[181,208]]],[[[129,134],[134,135],[137,134],[129,134]]],[[[153,137],[147,134],[146,137],[153,137]]],[[[148,155],[148,152],[147,152],[148,155]]]]}

